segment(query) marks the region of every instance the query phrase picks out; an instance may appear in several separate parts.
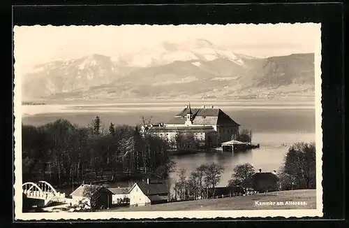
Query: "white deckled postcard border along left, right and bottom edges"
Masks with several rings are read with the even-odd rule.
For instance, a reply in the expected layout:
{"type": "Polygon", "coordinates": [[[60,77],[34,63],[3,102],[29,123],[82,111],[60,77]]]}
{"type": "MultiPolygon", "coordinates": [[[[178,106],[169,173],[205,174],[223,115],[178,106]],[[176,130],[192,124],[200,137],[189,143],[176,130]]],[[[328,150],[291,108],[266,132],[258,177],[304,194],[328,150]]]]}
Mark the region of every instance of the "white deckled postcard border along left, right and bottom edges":
{"type": "MultiPolygon", "coordinates": [[[[283,24],[283,23],[280,23],[283,24]]],[[[301,24],[301,23],[295,23],[301,24]]],[[[308,24],[308,23],[304,23],[308,24]]],[[[313,23],[311,23],[313,24],[313,23]]],[[[204,24],[200,24],[203,26],[204,24]]],[[[211,24],[210,24],[211,25],[211,24]]],[[[224,26],[215,24],[217,26],[224,26]]],[[[240,24],[239,24],[240,25],[240,24]]],[[[241,24],[244,25],[244,24],[241,24]]],[[[254,24],[257,26],[258,24],[254,24]]],[[[272,24],[270,24],[272,25],[272,24]]],[[[38,25],[36,25],[38,26],[38,25]]],[[[138,26],[141,26],[138,24],[138,26]]],[[[158,26],[158,25],[156,25],[158,26]]],[[[173,26],[173,25],[172,25],[173,26]]],[[[186,24],[186,26],[191,26],[186,24]]],[[[195,25],[193,25],[195,26],[195,25]]],[[[248,210],[248,211],[138,211],[138,212],[95,212],[95,213],[22,213],[22,83],[20,76],[14,77],[15,115],[15,220],[107,220],[107,219],[156,219],[156,218],[302,218],[322,217],[322,104],[321,104],[321,25],[318,24],[315,48],[315,133],[316,133],[316,209],[297,210],[248,210]]],[[[15,56],[15,50],[14,50],[15,56]]]]}

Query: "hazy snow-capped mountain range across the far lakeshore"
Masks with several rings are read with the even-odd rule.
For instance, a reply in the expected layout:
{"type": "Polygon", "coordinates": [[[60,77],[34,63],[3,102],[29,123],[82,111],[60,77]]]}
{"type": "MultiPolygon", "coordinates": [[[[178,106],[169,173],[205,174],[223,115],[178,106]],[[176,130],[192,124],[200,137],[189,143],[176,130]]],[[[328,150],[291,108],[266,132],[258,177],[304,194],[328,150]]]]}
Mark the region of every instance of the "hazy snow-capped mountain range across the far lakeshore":
{"type": "Polygon", "coordinates": [[[203,39],[114,56],[36,65],[22,99],[239,99],[314,97],[314,54],[258,58],[203,39]]]}

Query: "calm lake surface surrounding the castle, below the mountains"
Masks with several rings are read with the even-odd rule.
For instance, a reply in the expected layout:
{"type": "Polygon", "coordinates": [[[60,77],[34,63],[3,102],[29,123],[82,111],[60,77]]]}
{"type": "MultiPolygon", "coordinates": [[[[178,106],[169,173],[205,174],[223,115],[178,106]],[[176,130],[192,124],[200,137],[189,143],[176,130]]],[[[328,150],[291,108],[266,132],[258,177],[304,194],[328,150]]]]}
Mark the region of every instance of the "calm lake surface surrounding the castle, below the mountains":
{"type": "MultiPolygon", "coordinates": [[[[214,105],[241,124],[241,128],[253,130],[253,142],[260,149],[247,152],[206,152],[173,156],[177,169],[185,168],[187,175],[201,164],[216,162],[225,172],[221,176],[221,186],[227,185],[232,169],[237,164],[249,162],[262,171],[278,170],[292,143],[315,142],[315,105],[313,101],[215,101],[207,104],[195,102],[193,107],[214,105]],[[283,146],[286,145],[286,146],[283,146]]],[[[86,126],[98,115],[104,127],[114,124],[139,124],[140,117],[151,117],[152,122],[167,122],[179,113],[185,103],[144,102],[119,104],[59,104],[22,106],[23,124],[45,124],[58,118],[86,126]]],[[[170,176],[171,182],[177,173],[170,176]]]]}

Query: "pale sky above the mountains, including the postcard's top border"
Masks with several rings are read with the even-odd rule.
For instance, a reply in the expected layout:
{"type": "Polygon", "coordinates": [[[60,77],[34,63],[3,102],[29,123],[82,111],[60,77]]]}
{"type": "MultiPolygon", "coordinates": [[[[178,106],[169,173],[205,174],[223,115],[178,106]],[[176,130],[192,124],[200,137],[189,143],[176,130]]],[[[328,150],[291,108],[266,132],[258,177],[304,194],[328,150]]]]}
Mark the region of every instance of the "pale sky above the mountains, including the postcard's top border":
{"type": "Polygon", "coordinates": [[[320,24],[16,26],[15,67],[92,54],[121,55],[197,38],[255,57],[290,55],[314,52],[320,24]]]}

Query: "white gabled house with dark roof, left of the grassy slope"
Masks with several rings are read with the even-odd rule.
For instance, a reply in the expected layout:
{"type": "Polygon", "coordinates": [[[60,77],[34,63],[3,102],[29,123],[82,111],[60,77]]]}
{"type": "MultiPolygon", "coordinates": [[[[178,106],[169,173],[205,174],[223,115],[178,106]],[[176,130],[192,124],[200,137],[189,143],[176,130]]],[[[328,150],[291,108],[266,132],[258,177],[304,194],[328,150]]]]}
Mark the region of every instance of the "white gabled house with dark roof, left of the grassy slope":
{"type": "Polygon", "coordinates": [[[168,202],[169,192],[168,186],[163,183],[150,183],[149,179],[146,182],[137,182],[128,192],[130,206],[145,206],[168,202]]]}

